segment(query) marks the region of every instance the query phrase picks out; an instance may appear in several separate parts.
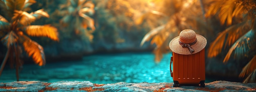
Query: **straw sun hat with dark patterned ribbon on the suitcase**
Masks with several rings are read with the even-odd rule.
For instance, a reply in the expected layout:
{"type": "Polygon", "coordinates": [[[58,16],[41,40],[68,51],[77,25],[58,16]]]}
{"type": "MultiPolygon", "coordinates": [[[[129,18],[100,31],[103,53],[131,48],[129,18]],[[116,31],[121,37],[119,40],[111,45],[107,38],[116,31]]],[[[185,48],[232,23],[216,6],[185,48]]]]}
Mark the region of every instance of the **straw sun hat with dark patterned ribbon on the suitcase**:
{"type": "Polygon", "coordinates": [[[189,55],[200,52],[206,44],[207,40],[204,36],[195,34],[191,29],[185,29],[180,32],[180,36],[171,40],[169,47],[177,54],[189,55]]]}

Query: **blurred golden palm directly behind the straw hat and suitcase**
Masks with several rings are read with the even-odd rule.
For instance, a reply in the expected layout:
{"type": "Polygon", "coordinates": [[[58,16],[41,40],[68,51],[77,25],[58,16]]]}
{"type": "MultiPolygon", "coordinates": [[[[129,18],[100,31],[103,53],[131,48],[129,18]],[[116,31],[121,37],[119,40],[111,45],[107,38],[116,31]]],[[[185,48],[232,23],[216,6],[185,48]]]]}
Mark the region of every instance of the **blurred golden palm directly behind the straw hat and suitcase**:
{"type": "MultiPolygon", "coordinates": [[[[162,6],[155,15],[161,15],[164,23],[150,30],[141,40],[141,45],[151,40],[155,44],[155,61],[160,62],[162,54],[170,52],[168,43],[184,29],[193,29],[202,35],[211,30],[204,22],[202,9],[198,0],[155,0],[156,6],[162,6]]],[[[151,12],[151,11],[150,11],[151,12]]],[[[159,20],[161,18],[157,18],[159,20]]],[[[140,19],[141,20],[141,19],[140,19]]],[[[148,19],[144,19],[148,20],[148,19]]],[[[211,32],[211,31],[210,31],[211,32]]]]}

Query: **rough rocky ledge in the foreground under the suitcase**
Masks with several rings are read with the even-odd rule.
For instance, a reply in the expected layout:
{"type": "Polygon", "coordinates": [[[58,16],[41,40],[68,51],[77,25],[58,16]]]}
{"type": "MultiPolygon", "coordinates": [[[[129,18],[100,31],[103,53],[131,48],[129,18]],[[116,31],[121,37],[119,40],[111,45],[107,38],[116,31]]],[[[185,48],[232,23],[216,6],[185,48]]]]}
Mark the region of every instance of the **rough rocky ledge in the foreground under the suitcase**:
{"type": "Polygon", "coordinates": [[[90,81],[16,81],[0,83],[0,92],[250,92],[256,91],[256,83],[238,83],[214,81],[206,83],[205,88],[198,86],[180,86],[173,88],[173,83],[112,83],[96,84],[90,81]]]}

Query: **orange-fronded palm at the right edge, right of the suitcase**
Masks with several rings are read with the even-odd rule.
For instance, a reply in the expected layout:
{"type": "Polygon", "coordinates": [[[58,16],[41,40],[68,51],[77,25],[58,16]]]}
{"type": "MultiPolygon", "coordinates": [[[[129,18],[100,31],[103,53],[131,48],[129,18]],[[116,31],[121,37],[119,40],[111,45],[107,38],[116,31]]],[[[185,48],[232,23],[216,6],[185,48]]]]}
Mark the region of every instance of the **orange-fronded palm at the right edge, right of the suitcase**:
{"type": "Polygon", "coordinates": [[[230,25],[220,32],[218,37],[209,47],[208,57],[214,57],[221,53],[222,48],[229,48],[223,63],[226,63],[231,55],[234,58],[253,57],[239,77],[247,78],[243,83],[256,83],[256,0],[209,0],[211,7],[206,17],[218,15],[220,23],[230,25]]]}

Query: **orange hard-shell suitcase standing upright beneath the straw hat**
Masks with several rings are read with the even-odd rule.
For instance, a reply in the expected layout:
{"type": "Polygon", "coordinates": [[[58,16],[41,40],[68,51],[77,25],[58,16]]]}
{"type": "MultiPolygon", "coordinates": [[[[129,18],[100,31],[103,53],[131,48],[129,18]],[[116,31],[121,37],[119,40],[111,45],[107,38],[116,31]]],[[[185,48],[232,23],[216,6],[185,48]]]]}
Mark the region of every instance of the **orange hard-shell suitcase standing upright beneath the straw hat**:
{"type": "Polygon", "coordinates": [[[182,55],[173,52],[170,62],[171,77],[173,77],[173,87],[179,87],[180,84],[200,84],[205,87],[205,55],[202,51],[182,55]],[[173,63],[173,70],[171,69],[173,63]]]}

